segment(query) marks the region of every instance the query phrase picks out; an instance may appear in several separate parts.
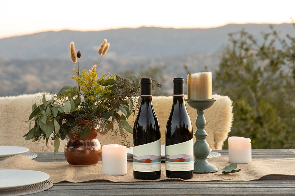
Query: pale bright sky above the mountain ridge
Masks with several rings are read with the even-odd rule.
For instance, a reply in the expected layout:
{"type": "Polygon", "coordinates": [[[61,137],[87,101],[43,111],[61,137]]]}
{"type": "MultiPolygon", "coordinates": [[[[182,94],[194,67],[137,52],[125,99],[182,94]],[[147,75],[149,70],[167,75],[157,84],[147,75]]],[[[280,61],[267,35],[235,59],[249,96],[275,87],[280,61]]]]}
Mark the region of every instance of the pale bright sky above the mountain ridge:
{"type": "Polygon", "coordinates": [[[293,0],[0,0],[0,38],[48,30],[290,23],[293,0]]]}

